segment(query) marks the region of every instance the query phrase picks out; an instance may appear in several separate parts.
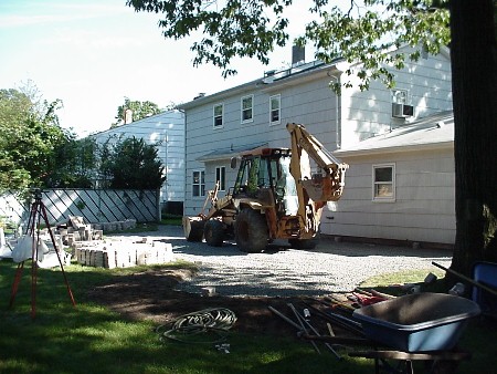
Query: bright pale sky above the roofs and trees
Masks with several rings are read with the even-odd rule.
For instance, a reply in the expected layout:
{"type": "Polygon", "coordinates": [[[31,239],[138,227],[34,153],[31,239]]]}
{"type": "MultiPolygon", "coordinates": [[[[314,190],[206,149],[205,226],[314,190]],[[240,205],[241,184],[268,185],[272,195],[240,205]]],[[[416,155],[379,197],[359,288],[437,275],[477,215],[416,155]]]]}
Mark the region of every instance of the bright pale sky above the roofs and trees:
{"type": "MultiPolygon", "coordinates": [[[[298,20],[290,23],[292,37],[310,17],[298,7],[289,13],[298,20]]],[[[109,128],[125,97],[163,108],[262,77],[292,60],[290,44],[276,50],[269,65],[239,59],[232,65],[239,74],[225,80],[215,66],[193,67],[194,38],[165,39],[158,20],[126,0],[1,0],[0,89],[31,82],[44,100],[62,100],[61,126],[84,137],[109,128]]]]}

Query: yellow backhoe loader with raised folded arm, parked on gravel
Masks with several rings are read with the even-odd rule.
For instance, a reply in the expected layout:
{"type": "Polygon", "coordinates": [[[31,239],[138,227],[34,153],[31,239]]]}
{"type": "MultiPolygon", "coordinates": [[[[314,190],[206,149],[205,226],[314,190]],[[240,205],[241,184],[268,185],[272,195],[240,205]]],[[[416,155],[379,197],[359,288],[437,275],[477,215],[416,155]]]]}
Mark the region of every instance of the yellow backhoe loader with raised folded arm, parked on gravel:
{"type": "MultiPolygon", "coordinates": [[[[341,197],[349,166],[304,125],[290,123],[286,128],[289,149],[261,147],[242,153],[236,181],[226,196],[218,197],[216,184],[202,212],[183,217],[187,240],[205,239],[219,247],[234,238],[244,252],[261,252],[275,239],[287,239],[294,248],[314,248],[322,207],[341,197]]],[[[237,160],[232,158],[233,168],[237,160]]]]}

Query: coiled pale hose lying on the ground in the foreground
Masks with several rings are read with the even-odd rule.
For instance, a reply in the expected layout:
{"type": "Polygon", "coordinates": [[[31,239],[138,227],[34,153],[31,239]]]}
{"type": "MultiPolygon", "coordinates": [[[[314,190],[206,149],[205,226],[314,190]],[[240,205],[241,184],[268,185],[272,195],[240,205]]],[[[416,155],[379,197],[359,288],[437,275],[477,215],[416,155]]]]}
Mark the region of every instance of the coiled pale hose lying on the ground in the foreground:
{"type": "Polygon", "coordinates": [[[176,321],[156,329],[159,339],[183,343],[219,343],[226,340],[236,322],[235,314],[225,308],[210,308],[179,316],[176,321]]]}

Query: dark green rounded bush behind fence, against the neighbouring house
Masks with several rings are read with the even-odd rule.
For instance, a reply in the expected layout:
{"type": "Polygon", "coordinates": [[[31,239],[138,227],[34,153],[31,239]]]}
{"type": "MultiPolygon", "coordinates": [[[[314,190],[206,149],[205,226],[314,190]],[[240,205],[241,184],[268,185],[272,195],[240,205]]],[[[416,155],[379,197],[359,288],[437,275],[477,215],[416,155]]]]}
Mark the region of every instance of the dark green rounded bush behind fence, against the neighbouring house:
{"type": "Polygon", "coordinates": [[[157,189],[166,180],[157,147],[135,136],[104,144],[101,177],[103,187],[119,189],[157,189]]]}

